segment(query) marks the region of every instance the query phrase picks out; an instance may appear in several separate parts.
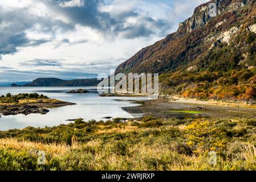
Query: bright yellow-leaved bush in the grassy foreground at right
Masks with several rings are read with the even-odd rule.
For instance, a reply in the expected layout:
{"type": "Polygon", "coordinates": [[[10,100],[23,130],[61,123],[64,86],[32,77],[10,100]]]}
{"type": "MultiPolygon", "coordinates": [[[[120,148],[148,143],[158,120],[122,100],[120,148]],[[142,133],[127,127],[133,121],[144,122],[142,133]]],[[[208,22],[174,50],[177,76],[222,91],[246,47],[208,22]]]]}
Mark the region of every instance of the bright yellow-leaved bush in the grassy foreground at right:
{"type": "Polygon", "coordinates": [[[226,134],[217,122],[195,121],[186,127],[188,145],[195,148],[196,154],[209,151],[220,152],[226,147],[226,134]]]}

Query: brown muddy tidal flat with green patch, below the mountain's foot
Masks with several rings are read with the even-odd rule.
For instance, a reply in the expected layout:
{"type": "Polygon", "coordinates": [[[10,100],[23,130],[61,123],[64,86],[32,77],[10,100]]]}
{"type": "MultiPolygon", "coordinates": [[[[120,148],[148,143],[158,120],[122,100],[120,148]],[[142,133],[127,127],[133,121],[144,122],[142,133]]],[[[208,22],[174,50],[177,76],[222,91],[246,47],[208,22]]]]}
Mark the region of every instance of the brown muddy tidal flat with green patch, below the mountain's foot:
{"type": "Polygon", "coordinates": [[[140,105],[123,109],[129,113],[155,114],[162,118],[256,118],[255,107],[204,104],[205,102],[190,102],[189,100],[186,102],[165,101],[161,98],[134,103],[140,105]]]}

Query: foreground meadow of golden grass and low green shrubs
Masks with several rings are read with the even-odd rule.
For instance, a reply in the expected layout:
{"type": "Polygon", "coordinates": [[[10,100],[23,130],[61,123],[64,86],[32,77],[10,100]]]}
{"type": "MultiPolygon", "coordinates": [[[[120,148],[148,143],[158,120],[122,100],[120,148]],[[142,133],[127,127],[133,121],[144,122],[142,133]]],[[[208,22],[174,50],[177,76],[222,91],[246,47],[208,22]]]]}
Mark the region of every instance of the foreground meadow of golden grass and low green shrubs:
{"type": "Polygon", "coordinates": [[[255,134],[255,119],[77,119],[0,131],[0,170],[255,170],[255,134]]]}

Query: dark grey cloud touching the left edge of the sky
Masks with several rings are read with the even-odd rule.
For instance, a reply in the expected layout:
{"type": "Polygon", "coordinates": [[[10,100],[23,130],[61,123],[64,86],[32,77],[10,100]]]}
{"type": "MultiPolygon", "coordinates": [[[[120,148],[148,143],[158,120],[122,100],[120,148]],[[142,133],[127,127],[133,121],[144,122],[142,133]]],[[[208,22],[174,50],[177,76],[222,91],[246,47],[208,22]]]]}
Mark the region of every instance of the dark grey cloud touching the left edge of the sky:
{"type": "Polygon", "coordinates": [[[0,55],[17,52],[17,47],[38,46],[50,42],[51,39],[29,39],[26,31],[39,24],[41,31],[55,33],[56,27],[61,31],[74,29],[74,25],[61,20],[42,18],[29,14],[29,7],[21,9],[5,9],[0,6],[0,55]]]}

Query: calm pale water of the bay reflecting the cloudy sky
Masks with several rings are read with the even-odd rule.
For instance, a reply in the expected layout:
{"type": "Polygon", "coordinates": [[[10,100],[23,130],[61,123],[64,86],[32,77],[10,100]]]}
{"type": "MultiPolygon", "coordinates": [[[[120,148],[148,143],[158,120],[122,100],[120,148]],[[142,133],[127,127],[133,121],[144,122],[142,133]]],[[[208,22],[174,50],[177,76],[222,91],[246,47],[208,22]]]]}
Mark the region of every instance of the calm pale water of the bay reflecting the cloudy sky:
{"type": "Polygon", "coordinates": [[[67,119],[83,118],[85,120],[96,119],[99,121],[103,117],[113,118],[135,118],[140,117],[141,114],[130,114],[124,111],[122,107],[138,106],[139,104],[132,103],[133,101],[147,100],[145,97],[99,97],[94,87],[0,87],[0,96],[6,93],[32,93],[36,92],[44,94],[50,98],[58,100],[73,102],[77,105],[64,106],[54,109],[49,109],[50,112],[41,114],[29,115],[9,115],[0,118],[0,130],[22,129],[27,126],[45,127],[56,126],[60,124],[67,124],[70,121],[67,119]],[[86,94],[66,94],[66,92],[75,89],[87,89],[90,91],[86,94]]]}

